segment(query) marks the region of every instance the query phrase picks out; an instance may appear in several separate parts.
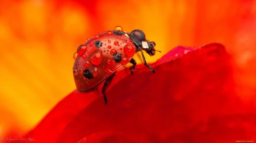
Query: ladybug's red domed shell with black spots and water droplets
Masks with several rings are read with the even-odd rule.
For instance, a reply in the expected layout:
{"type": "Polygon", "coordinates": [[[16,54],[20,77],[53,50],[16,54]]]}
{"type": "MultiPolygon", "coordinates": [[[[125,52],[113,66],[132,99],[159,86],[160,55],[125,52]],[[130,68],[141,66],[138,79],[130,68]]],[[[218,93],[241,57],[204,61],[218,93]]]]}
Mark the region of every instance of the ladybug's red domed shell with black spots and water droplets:
{"type": "Polygon", "coordinates": [[[127,34],[120,31],[102,32],[77,49],[73,75],[77,90],[88,91],[99,85],[127,64],[136,47],[127,34]],[[84,72],[89,76],[85,77],[84,72]]]}

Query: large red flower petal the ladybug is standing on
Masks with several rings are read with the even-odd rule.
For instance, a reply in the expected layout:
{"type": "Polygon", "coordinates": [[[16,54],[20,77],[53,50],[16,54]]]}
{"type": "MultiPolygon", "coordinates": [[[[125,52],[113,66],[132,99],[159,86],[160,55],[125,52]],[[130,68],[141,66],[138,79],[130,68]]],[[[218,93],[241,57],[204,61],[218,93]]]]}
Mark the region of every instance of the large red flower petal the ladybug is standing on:
{"type": "Polygon", "coordinates": [[[70,94],[27,136],[47,143],[76,143],[84,137],[88,143],[256,139],[256,115],[250,115],[255,108],[234,95],[232,65],[223,45],[195,49],[170,51],[151,64],[155,74],[147,67],[123,74],[106,93],[107,106],[96,99],[96,91],[70,94]],[[177,59],[184,50],[195,51],[177,59]]]}

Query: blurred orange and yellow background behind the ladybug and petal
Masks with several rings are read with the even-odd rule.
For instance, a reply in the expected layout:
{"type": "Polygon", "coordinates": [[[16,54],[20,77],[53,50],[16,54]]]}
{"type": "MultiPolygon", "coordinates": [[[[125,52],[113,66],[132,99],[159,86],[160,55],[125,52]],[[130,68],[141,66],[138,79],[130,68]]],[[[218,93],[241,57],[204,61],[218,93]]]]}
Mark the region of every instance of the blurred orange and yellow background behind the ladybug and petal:
{"type": "MultiPolygon", "coordinates": [[[[236,92],[254,101],[255,0],[1,0],[0,135],[23,135],[76,89],[76,48],[94,34],[141,29],[154,62],[177,45],[220,42],[233,60],[236,92]],[[254,100],[253,100],[254,99],[254,100]]],[[[138,56],[135,56],[138,59],[138,56]]],[[[137,60],[140,62],[140,60],[137,60]]],[[[72,107],[70,107],[72,108],[72,107]]]]}

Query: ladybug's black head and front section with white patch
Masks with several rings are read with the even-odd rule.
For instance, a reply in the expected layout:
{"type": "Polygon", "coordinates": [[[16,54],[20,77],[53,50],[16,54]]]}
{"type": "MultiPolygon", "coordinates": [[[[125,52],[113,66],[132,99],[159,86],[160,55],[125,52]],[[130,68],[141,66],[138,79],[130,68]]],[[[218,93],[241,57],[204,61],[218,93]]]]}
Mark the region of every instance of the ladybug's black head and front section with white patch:
{"type": "Polygon", "coordinates": [[[137,49],[140,48],[142,50],[145,50],[150,56],[154,56],[155,51],[158,51],[154,48],[156,46],[156,43],[146,40],[144,32],[139,29],[131,31],[130,38],[132,39],[132,42],[137,49]]]}

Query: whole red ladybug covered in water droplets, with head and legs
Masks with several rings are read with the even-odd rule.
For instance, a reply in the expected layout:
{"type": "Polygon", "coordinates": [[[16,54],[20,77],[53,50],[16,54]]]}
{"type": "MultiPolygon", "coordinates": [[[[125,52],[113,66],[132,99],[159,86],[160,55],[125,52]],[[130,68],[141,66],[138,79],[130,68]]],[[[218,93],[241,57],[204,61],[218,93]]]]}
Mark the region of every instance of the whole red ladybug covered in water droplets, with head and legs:
{"type": "Polygon", "coordinates": [[[107,85],[115,76],[117,70],[125,66],[128,62],[133,64],[129,70],[133,69],[137,62],[133,59],[136,52],[140,51],[145,66],[154,73],[153,68],[147,64],[142,50],[150,56],[155,54],[155,42],[149,42],[141,30],[133,30],[131,33],[122,31],[121,27],[116,27],[114,31],[107,31],[96,34],[87,39],[85,44],[77,48],[75,63],[73,66],[73,76],[79,92],[89,92],[105,81],[102,88],[105,104],[107,97],[105,90],[107,85]]]}

